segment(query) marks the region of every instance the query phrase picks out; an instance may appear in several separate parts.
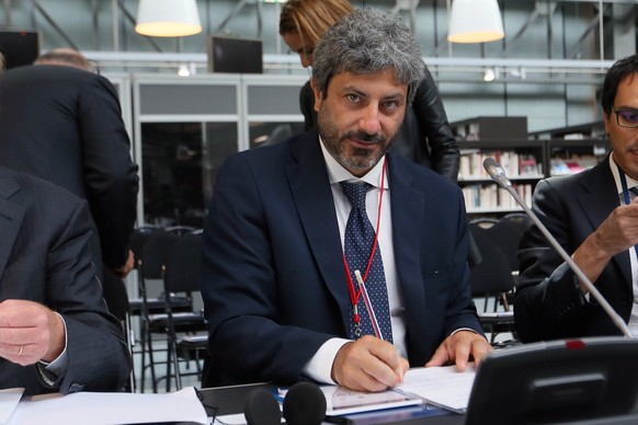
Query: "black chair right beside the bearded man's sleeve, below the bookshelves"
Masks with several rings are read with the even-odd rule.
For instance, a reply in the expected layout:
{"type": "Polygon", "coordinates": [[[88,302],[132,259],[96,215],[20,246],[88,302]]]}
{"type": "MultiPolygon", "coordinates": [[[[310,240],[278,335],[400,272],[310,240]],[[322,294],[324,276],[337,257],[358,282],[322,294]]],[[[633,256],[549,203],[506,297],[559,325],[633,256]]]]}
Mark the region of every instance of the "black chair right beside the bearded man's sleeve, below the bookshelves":
{"type": "Polygon", "coordinates": [[[509,296],[514,290],[510,262],[489,237],[488,229],[477,222],[470,222],[468,227],[481,256],[481,261],[470,267],[472,297],[483,298],[483,308],[479,311],[481,325],[491,333],[492,344],[501,332],[511,332],[515,337],[514,317],[509,303],[509,296]],[[493,303],[491,309],[490,302],[493,303]],[[501,303],[504,311],[499,311],[501,303]]]}

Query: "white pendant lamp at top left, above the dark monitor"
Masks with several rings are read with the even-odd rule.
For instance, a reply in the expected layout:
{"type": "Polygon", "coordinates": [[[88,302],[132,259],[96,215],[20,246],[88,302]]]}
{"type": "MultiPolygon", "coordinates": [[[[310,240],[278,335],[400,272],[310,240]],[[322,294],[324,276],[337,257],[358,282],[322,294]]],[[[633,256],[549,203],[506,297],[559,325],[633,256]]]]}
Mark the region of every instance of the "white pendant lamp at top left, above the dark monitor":
{"type": "Polygon", "coordinates": [[[202,32],[196,0],[139,0],[135,32],[153,37],[183,37],[202,32]]]}

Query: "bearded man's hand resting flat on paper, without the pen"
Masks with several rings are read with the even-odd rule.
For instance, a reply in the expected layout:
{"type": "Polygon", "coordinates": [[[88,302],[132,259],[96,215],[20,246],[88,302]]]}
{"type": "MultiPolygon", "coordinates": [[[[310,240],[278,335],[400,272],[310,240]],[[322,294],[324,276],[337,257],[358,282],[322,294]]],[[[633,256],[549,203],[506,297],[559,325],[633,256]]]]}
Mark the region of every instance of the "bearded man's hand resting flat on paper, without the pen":
{"type": "Polygon", "coordinates": [[[474,357],[475,364],[478,365],[490,351],[492,347],[482,335],[471,331],[458,331],[445,338],[436,348],[434,356],[425,364],[425,367],[454,363],[456,369],[463,371],[467,367],[470,355],[474,357]]]}

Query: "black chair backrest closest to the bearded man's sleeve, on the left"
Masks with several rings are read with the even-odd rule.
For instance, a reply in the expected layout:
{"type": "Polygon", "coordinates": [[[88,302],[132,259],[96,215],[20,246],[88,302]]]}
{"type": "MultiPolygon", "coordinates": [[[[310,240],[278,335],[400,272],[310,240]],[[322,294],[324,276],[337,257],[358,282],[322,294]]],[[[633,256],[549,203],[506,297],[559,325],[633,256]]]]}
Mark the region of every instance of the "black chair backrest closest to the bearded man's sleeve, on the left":
{"type": "Polygon", "coordinates": [[[191,294],[200,290],[202,233],[184,233],[172,245],[164,273],[166,290],[191,294]]]}

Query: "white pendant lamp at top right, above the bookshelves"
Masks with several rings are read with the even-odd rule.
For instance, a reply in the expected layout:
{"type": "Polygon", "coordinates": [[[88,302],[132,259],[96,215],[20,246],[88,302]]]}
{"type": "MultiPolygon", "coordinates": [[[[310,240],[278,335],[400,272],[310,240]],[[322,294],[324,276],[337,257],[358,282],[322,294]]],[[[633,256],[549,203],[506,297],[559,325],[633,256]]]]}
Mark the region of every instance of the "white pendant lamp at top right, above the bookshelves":
{"type": "Polygon", "coordinates": [[[449,12],[451,43],[488,43],[505,36],[497,0],[453,0],[449,12]]]}

